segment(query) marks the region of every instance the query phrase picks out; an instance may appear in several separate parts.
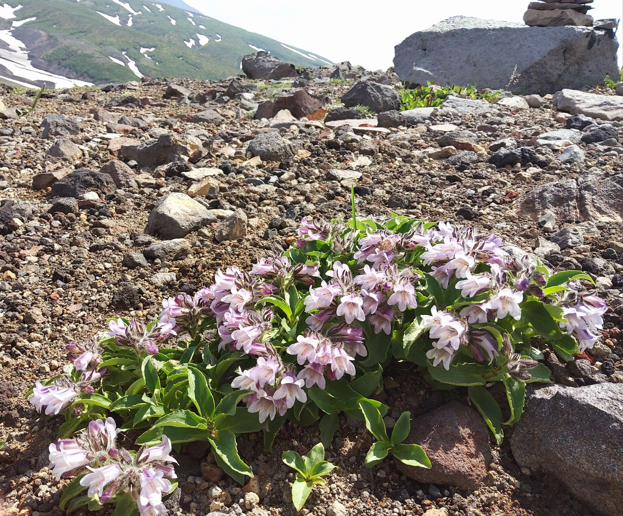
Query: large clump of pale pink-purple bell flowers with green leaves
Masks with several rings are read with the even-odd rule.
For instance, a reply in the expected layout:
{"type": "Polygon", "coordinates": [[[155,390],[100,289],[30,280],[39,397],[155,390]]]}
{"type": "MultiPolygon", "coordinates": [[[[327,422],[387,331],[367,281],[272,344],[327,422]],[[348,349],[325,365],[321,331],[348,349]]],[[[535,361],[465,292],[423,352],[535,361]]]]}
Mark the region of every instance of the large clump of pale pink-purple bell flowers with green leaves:
{"type": "MultiPolygon", "coordinates": [[[[218,270],[199,292],[164,299],[156,321],[113,318],[103,338],[70,344],[72,363],[38,381],[31,403],[63,414],[61,439],[113,416],[138,446],[207,441],[244,484],[253,472],[237,452],[239,434],[263,431],[269,450],[286,420],[320,419],[329,446],[340,412],[362,421],[361,406],[387,413],[370,398],[383,368],[402,361],[436,388],[467,386],[499,443],[502,425],[521,416],[526,383],[549,382],[541,349],[573,360],[597,342],[606,304],[580,281],[592,282],[577,270],[551,274],[495,234],[394,214],[383,224],[357,220],[353,204],[349,221],[305,217],[290,248],[275,245],[250,270],[218,270]],[[496,381],[506,421],[487,389],[496,381]]],[[[141,453],[87,463],[76,452],[71,464],[111,466],[106,475],[117,464],[123,480],[111,473],[106,485],[136,500],[141,515],[163,514],[158,496],[141,505],[141,453]]],[[[166,478],[145,482],[165,494],[166,478]]],[[[103,492],[89,494],[102,501],[103,492]]]]}

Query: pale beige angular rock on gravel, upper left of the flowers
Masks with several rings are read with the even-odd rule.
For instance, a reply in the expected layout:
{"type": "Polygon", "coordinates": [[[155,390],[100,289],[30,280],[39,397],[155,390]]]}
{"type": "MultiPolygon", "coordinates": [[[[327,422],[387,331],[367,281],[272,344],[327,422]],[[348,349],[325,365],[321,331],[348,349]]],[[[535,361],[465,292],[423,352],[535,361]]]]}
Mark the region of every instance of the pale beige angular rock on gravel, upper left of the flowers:
{"type": "Polygon", "coordinates": [[[166,239],[183,238],[216,217],[188,195],[174,192],[164,196],[150,213],[146,232],[166,239]]]}

